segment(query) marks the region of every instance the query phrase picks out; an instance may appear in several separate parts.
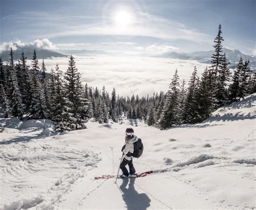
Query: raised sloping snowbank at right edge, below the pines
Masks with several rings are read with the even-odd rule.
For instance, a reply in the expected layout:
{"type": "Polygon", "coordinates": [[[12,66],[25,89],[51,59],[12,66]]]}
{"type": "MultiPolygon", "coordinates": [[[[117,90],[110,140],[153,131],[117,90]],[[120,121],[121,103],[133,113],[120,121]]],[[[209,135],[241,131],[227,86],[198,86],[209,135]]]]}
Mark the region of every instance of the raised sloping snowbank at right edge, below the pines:
{"type": "Polygon", "coordinates": [[[256,119],[256,93],[251,94],[245,99],[233,102],[230,105],[220,107],[212,113],[212,116],[204,121],[230,121],[256,119]]]}

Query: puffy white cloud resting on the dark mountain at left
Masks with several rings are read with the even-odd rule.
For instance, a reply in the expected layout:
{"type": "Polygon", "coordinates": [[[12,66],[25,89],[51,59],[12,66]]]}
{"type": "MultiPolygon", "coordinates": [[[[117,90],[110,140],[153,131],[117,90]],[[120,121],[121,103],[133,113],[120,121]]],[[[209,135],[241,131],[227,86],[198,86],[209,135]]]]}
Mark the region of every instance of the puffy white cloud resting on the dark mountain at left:
{"type": "Polygon", "coordinates": [[[20,39],[15,38],[11,42],[4,42],[0,45],[0,52],[8,51],[10,48],[16,51],[24,47],[36,48],[36,49],[46,49],[46,50],[57,50],[58,47],[55,44],[52,44],[49,39],[36,39],[33,42],[22,42],[20,39]]]}

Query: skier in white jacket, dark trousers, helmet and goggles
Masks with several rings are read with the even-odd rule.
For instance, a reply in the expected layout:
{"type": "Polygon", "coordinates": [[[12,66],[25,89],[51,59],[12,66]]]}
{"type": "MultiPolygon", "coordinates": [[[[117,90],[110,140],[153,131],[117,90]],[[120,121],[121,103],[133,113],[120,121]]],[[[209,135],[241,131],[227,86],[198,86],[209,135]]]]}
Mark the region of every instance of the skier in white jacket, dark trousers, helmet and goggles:
{"type": "Polygon", "coordinates": [[[134,135],[134,131],[131,127],[126,128],[125,131],[125,145],[122,148],[122,152],[124,154],[124,159],[120,164],[120,169],[123,174],[120,175],[120,178],[127,178],[130,175],[136,175],[135,168],[132,163],[132,153],[134,151],[134,142],[138,141],[138,138],[134,135]],[[127,171],[126,165],[129,166],[129,172],[127,171]]]}

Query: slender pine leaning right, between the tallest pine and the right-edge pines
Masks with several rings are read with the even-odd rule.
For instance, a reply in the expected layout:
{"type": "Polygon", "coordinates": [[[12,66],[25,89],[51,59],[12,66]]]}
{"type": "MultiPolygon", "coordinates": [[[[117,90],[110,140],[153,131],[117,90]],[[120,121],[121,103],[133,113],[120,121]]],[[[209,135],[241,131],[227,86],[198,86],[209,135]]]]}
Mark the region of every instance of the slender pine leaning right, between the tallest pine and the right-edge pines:
{"type": "Polygon", "coordinates": [[[242,68],[244,68],[244,63],[242,60],[242,57],[239,60],[239,63],[237,64],[237,67],[234,70],[234,75],[232,77],[233,82],[230,84],[229,87],[229,98],[230,98],[230,103],[233,101],[238,101],[239,100],[239,91],[240,91],[240,73],[242,71],[242,68]]]}

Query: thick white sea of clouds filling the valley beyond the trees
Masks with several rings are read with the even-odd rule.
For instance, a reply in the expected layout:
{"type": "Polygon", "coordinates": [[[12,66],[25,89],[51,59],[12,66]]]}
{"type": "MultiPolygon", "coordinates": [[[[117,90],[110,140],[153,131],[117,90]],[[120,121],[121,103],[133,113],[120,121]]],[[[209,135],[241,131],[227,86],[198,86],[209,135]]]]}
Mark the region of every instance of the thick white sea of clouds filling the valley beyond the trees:
{"type": "MultiPolygon", "coordinates": [[[[166,92],[176,69],[180,82],[184,78],[188,83],[194,65],[197,65],[200,76],[207,65],[194,60],[142,56],[75,56],[75,61],[78,71],[82,74],[83,84],[97,86],[99,89],[105,85],[109,93],[115,87],[120,96],[146,96],[153,92],[166,92]],[[180,66],[181,62],[184,66],[180,66]]],[[[63,72],[68,69],[67,58],[45,59],[44,62],[48,72],[55,68],[56,63],[63,72]]],[[[31,66],[30,60],[28,65],[31,66]]]]}

